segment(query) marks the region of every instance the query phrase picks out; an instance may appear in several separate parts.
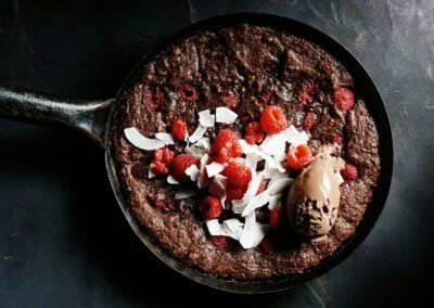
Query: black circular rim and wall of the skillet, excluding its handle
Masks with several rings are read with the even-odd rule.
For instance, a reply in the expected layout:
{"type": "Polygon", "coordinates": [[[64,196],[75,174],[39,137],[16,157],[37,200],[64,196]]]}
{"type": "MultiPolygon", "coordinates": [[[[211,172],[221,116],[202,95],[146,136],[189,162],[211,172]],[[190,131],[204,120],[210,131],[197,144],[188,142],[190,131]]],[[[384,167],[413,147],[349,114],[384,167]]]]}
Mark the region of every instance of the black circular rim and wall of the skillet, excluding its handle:
{"type": "Polygon", "coordinates": [[[258,13],[224,15],[205,20],[203,22],[189,26],[188,28],[181,30],[174,37],[166,40],[164,43],[154,48],[152,52],[148,53],[127,77],[127,79],[125,80],[118,92],[118,97],[122,95],[124,91],[128,89],[129,86],[141,75],[142,67],[144,66],[144,64],[148,61],[152,60],[154,55],[158,54],[174,41],[182,39],[186,36],[189,36],[190,34],[195,31],[205,29],[216,29],[219,27],[230,27],[242,23],[269,26],[275,29],[302,36],[319,44],[321,48],[323,48],[330,54],[332,54],[339,62],[341,62],[343,65],[346,66],[348,72],[354,77],[358,91],[363,93],[367,107],[375,121],[379,132],[379,140],[381,144],[381,146],[379,147],[379,155],[381,158],[381,172],[380,172],[380,178],[378,180],[378,185],[373,192],[372,201],[368,205],[363,219],[361,220],[355,234],[349,239],[345,240],[343,244],[340,246],[340,248],[337,248],[337,251],[334,252],[331,256],[323,259],[318,266],[309,268],[302,274],[281,277],[272,280],[255,280],[255,281],[235,281],[224,278],[216,278],[214,275],[199,271],[194,268],[188,267],[180,260],[169,255],[164,248],[159,246],[158,243],[156,243],[152,239],[152,236],[150,236],[149,234],[144,233],[141,230],[138,221],[136,220],[133,215],[129,211],[129,205],[122,195],[119,181],[115,169],[115,162],[113,159],[111,151],[112,147],[111,128],[113,127],[114,118],[116,117],[116,111],[119,101],[117,101],[113,105],[105,129],[105,134],[104,134],[104,144],[106,149],[105,159],[112,188],[115,192],[120,209],[123,210],[126,219],[128,220],[129,224],[135,230],[139,239],[159,259],[162,259],[169,267],[174,268],[175,270],[184,274],[186,277],[215,288],[234,293],[268,293],[268,292],[276,292],[293,287],[297,284],[304,283],[306,281],[309,281],[314,278],[317,278],[326,273],[331,268],[342,262],[366,239],[366,236],[373,228],[378,217],[380,216],[384,207],[388,190],[391,187],[392,169],[393,169],[393,140],[392,140],[391,126],[387,118],[386,110],[380,97],[380,93],[378,92],[371,78],[368,76],[368,74],[359,64],[359,62],[345,48],[343,48],[332,38],[320,33],[319,30],[310,26],[307,26],[305,24],[302,24],[299,22],[276,15],[258,14],[258,13]]]}

